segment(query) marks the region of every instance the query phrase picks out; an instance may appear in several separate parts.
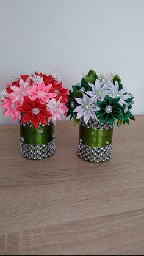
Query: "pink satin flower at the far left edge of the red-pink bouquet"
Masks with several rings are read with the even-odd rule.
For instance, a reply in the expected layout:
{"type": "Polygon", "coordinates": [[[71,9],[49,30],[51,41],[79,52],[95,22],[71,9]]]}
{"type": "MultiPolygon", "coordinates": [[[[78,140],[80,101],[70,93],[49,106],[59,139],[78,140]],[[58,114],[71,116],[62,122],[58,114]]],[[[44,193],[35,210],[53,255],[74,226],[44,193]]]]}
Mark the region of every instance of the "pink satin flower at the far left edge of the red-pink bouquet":
{"type": "Polygon", "coordinates": [[[2,100],[1,106],[5,109],[4,117],[12,115],[13,122],[16,118],[21,119],[20,111],[17,109],[20,106],[20,101],[13,102],[13,97],[9,93],[7,93],[7,98],[2,100]]]}

